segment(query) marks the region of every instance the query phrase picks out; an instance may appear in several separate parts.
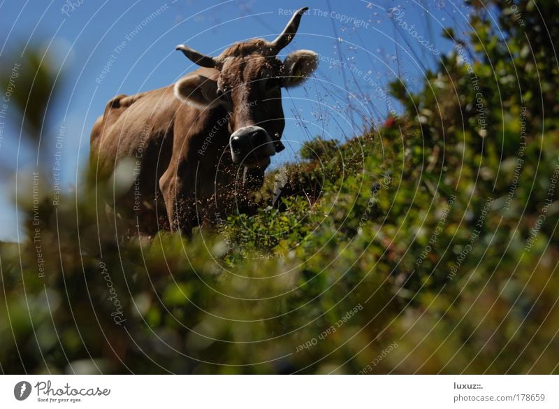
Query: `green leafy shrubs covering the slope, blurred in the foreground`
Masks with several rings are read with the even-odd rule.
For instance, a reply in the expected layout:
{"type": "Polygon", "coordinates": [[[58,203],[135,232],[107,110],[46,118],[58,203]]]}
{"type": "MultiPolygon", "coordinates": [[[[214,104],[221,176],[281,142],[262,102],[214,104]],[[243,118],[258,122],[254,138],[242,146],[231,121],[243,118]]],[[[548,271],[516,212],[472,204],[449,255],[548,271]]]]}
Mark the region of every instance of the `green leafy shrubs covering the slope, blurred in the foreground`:
{"type": "Polygon", "coordinates": [[[115,241],[92,189],[29,198],[30,239],[0,247],[2,371],[558,373],[559,76],[545,41],[530,65],[521,31],[508,54],[472,20],[479,62],[395,82],[405,115],[309,143],[217,233],[115,241]]]}

